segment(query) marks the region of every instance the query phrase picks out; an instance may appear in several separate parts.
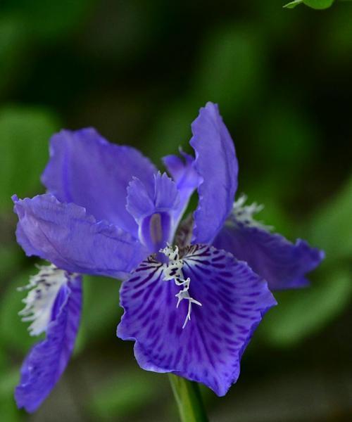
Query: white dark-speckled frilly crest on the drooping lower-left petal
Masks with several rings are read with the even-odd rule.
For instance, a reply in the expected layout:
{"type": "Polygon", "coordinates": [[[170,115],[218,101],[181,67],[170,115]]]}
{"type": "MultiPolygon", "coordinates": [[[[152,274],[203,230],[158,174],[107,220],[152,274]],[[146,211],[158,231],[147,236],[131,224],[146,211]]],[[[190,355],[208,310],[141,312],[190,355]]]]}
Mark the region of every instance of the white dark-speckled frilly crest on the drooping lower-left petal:
{"type": "Polygon", "coordinates": [[[51,264],[39,267],[39,273],[30,277],[30,283],[18,288],[20,291],[30,290],[23,299],[25,307],[18,312],[23,316],[22,321],[33,321],[28,327],[30,335],[39,335],[46,331],[58,290],[67,281],[65,271],[51,264]]]}

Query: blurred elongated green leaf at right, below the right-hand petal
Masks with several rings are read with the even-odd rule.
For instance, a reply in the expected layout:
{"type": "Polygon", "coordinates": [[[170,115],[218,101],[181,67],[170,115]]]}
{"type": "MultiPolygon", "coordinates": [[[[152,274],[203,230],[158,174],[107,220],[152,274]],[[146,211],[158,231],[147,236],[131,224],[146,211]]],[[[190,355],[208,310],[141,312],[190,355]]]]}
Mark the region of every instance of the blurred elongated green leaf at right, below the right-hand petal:
{"type": "Polygon", "coordinates": [[[277,293],[275,297],[278,305],[265,315],[259,333],[269,343],[289,347],[320,331],[348,305],[351,271],[348,267],[329,271],[309,288],[277,293]]]}

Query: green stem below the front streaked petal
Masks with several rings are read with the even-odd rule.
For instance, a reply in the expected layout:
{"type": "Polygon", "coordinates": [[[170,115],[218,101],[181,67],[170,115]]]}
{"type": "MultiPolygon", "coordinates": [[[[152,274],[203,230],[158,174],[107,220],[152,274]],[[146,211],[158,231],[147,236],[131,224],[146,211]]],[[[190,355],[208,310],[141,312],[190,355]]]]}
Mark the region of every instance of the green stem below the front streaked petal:
{"type": "Polygon", "coordinates": [[[174,393],[182,422],[208,422],[206,410],[201,399],[199,385],[187,381],[180,376],[169,373],[169,379],[174,393]]]}

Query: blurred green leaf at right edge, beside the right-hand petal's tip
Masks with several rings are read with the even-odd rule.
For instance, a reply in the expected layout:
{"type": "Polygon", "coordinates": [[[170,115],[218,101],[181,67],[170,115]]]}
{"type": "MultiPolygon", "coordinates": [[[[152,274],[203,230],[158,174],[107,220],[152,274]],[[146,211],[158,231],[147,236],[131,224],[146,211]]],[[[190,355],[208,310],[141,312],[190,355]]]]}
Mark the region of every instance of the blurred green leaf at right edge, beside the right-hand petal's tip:
{"type": "Polygon", "coordinates": [[[310,241],[325,250],[327,260],[352,256],[351,216],[352,175],[310,221],[310,241]]]}

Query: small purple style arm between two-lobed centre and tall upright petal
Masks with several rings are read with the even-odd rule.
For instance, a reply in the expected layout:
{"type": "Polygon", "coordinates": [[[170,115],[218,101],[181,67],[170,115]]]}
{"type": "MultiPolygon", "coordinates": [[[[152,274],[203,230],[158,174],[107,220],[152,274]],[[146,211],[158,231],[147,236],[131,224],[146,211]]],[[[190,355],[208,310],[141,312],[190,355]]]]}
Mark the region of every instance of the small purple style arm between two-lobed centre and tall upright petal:
{"type": "Polygon", "coordinates": [[[186,210],[194,190],[201,183],[199,174],[194,169],[194,158],[191,155],[180,151],[182,158],[177,155],[167,155],[163,157],[163,163],[175,180],[177,189],[180,193],[180,204],[178,206],[176,216],[179,221],[186,210]]]}

